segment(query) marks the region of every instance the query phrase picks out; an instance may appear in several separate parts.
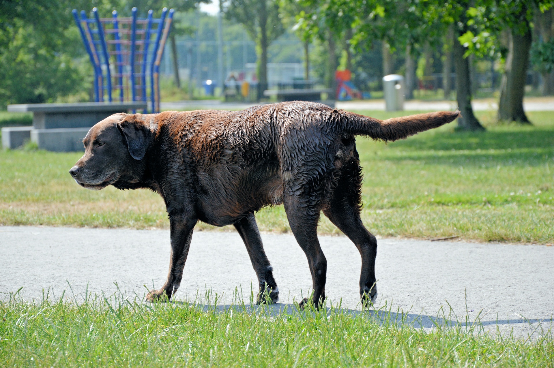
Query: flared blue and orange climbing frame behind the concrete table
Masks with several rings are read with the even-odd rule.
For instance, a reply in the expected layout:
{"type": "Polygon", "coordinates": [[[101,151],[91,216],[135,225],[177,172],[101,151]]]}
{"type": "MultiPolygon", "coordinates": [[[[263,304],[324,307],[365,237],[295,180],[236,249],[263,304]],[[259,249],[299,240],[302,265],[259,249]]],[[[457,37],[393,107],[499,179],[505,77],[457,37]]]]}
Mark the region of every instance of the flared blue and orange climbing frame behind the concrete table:
{"type": "Polygon", "coordinates": [[[94,99],[96,102],[148,102],[144,113],[160,112],[160,63],[173,20],[173,9],[162,9],[160,18],[131,17],[100,18],[93,8],[87,18],[73,10],[75,23],[83,38],[94,69],[94,99]],[[169,14],[168,14],[169,13],[169,14]],[[115,96],[115,97],[114,97],[115,96]]]}

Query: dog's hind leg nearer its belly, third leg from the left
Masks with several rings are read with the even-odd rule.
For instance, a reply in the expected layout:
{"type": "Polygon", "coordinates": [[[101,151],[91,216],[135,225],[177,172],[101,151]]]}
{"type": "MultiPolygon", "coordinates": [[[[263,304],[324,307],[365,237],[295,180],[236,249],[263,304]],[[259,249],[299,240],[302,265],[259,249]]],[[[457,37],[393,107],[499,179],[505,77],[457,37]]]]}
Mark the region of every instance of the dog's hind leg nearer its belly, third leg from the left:
{"type": "MultiPolygon", "coordinates": [[[[312,276],[312,288],[314,289],[314,305],[318,308],[324,305],[325,282],[327,279],[327,260],[319,240],[317,239],[317,221],[319,221],[319,209],[309,205],[313,197],[300,197],[286,195],[283,198],[286,217],[289,220],[290,229],[293,231],[296,241],[306,254],[308,266],[312,276]]],[[[306,300],[302,300],[300,307],[304,307],[306,300]]]]}

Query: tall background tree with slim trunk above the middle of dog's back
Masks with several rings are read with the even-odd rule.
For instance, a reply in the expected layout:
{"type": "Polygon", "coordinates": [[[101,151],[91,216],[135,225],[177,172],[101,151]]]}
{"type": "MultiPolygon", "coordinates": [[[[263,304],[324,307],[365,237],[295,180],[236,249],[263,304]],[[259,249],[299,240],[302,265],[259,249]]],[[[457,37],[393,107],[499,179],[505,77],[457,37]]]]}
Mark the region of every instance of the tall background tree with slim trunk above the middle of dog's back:
{"type": "Polygon", "coordinates": [[[268,48],[285,32],[276,0],[230,0],[225,16],[241,23],[256,43],[258,97],[268,88],[268,48]]]}

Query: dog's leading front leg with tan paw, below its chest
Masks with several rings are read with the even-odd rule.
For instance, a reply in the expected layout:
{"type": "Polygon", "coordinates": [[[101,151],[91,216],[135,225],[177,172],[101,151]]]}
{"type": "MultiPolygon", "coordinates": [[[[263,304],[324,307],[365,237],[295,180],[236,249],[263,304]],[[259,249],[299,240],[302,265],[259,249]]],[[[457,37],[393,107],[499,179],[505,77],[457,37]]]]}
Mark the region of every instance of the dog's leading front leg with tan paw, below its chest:
{"type": "Polygon", "coordinates": [[[167,273],[166,283],[159,290],[152,290],[146,296],[147,302],[154,302],[158,299],[175,294],[181,279],[183,278],[184,263],[187,261],[188,249],[191,246],[192,231],[197,220],[183,220],[182,217],[170,216],[171,227],[171,257],[170,270],[167,273]]]}

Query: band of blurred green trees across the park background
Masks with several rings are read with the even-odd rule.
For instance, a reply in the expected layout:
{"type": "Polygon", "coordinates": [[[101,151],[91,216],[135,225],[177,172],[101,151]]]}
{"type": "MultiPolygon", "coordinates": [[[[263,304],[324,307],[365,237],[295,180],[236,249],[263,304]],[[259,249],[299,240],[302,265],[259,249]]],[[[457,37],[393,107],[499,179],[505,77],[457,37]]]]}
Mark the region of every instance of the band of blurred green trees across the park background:
{"type": "Polygon", "coordinates": [[[90,99],[71,9],[124,17],[132,7],[139,16],[172,7],[162,70],[165,85],[182,91],[174,99],[208,98],[208,79],[248,80],[263,92],[301,64],[295,79],[331,88],[337,70],[350,70],[365,98],[382,97],[384,75],[404,75],[408,99],[455,99],[460,129],[482,128],[476,97],[497,101],[501,120],[528,123],[524,96],[554,94],[553,1],[225,0],[218,37],[217,11],[199,10],[209,0],[0,0],[0,106],[90,99]]]}

